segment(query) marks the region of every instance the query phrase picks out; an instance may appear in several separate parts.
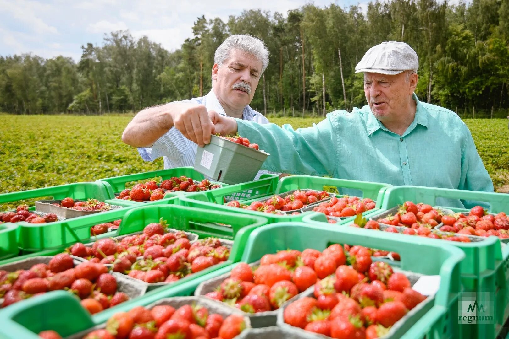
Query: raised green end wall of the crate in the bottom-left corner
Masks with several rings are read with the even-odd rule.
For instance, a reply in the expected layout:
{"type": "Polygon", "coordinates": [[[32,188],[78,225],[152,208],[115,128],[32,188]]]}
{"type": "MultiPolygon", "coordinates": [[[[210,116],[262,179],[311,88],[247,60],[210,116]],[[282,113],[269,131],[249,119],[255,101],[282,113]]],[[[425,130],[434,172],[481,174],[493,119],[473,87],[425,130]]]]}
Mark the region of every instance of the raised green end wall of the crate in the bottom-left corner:
{"type": "Polygon", "coordinates": [[[5,310],[0,311],[0,317],[6,321],[6,327],[0,326],[0,333],[5,330],[5,335],[12,338],[29,338],[30,334],[38,338],[40,331],[59,328],[62,337],[86,330],[94,326],[92,317],[79,303],[79,300],[67,291],[53,291],[44,293],[36,298],[30,298],[17,302],[5,310]],[[44,310],[64,311],[58,315],[44,310]],[[36,318],[34,319],[34,315],[36,318]],[[41,319],[43,318],[43,319],[41,319]],[[36,321],[34,321],[36,320],[36,321]],[[20,323],[31,322],[33,332],[28,331],[20,323]],[[64,326],[58,326],[64,324],[64,326]],[[30,333],[30,334],[29,334],[30,333]]]}

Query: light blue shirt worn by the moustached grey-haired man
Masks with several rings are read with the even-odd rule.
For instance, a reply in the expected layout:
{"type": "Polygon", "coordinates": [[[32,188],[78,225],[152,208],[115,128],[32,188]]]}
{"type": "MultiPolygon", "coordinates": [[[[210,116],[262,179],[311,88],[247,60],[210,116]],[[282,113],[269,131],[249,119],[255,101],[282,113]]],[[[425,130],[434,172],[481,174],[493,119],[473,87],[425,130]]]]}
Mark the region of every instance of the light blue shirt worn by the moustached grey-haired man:
{"type": "MultiPolygon", "coordinates": [[[[214,110],[219,114],[227,115],[224,112],[219,100],[217,100],[214,91],[211,89],[209,94],[204,97],[192,98],[191,100],[182,100],[181,102],[194,103],[198,105],[205,105],[208,111],[214,110]]],[[[242,112],[242,119],[247,121],[258,122],[258,124],[268,124],[269,120],[259,112],[253,110],[251,107],[244,107],[242,112]]],[[[159,157],[164,157],[164,168],[194,166],[194,159],[196,158],[196,145],[191,140],[187,139],[177,130],[172,127],[162,137],[156,140],[152,147],[139,147],[139,155],[145,161],[154,161],[159,157]]],[[[274,173],[269,171],[259,171],[256,179],[264,173],[274,173]]],[[[279,173],[277,173],[279,174],[279,173]]]]}

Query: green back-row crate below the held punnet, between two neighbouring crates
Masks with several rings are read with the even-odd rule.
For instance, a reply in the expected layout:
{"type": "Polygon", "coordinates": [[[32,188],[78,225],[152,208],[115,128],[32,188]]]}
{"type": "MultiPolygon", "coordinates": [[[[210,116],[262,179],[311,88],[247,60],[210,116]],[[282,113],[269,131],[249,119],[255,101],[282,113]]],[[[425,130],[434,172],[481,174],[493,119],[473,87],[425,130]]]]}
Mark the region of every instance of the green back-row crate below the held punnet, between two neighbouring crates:
{"type": "MultiPolygon", "coordinates": [[[[224,205],[224,199],[239,200],[241,202],[252,202],[254,200],[268,199],[274,194],[281,194],[296,189],[313,189],[322,191],[324,186],[337,187],[358,190],[362,198],[371,198],[377,200],[377,206],[381,204],[384,191],[390,187],[389,184],[365,182],[355,180],[344,180],[335,178],[326,178],[309,175],[292,175],[282,178],[274,174],[264,174],[259,180],[244,182],[229,187],[221,188],[208,192],[198,192],[181,197],[181,204],[191,207],[202,207],[215,210],[232,211],[237,213],[264,215],[271,223],[284,221],[301,221],[306,215],[314,214],[313,211],[307,211],[299,215],[278,215],[271,213],[262,213],[259,211],[246,210],[224,205]],[[378,202],[380,201],[380,203],[378,202]]],[[[378,207],[375,207],[378,208],[378,207]]],[[[368,211],[366,213],[371,213],[368,211]]],[[[347,223],[353,218],[343,220],[341,223],[347,223]]]]}

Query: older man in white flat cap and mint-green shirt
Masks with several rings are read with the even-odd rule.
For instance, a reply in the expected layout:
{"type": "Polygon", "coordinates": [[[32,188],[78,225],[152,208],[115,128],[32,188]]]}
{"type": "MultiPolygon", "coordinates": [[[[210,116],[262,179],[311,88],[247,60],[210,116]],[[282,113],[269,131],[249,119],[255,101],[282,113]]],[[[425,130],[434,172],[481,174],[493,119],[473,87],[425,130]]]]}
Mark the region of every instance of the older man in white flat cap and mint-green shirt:
{"type": "Polygon", "coordinates": [[[215,133],[238,131],[269,152],[263,168],[270,171],[493,192],[461,118],[417,99],[418,68],[409,45],[383,42],[355,68],[364,73],[368,106],[334,111],[319,124],[297,130],[218,115],[211,119],[215,133]]]}

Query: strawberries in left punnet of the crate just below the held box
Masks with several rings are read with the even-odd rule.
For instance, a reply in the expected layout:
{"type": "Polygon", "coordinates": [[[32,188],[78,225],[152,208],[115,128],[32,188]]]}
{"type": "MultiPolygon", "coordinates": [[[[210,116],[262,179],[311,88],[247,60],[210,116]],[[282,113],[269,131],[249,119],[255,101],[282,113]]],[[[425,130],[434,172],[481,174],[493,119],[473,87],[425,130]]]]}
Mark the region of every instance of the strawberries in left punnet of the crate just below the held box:
{"type": "MultiPolygon", "coordinates": [[[[239,207],[250,209],[253,211],[261,211],[266,213],[274,213],[280,211],[293,211],[306,207],[322,199],[328,198],[329,195],[325,191],[300,191],[297,190],[292,194],[287,195],[285,198],[274,195],[265,201],[253,201],[250,205],[240,203],[238,200],[233,200],[227,203],[227,206],[239,207]]],[[[298,212],[296,212],[298,214],[298,212]]]]}

